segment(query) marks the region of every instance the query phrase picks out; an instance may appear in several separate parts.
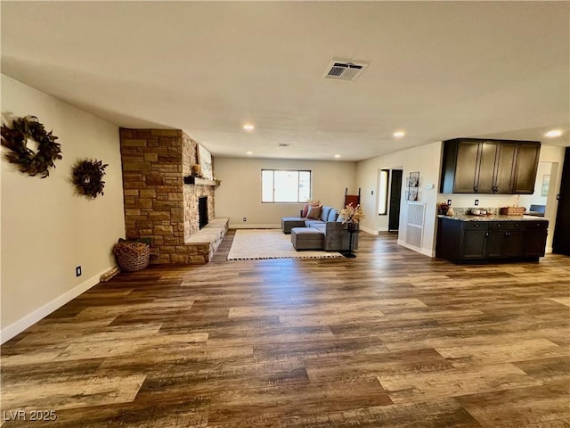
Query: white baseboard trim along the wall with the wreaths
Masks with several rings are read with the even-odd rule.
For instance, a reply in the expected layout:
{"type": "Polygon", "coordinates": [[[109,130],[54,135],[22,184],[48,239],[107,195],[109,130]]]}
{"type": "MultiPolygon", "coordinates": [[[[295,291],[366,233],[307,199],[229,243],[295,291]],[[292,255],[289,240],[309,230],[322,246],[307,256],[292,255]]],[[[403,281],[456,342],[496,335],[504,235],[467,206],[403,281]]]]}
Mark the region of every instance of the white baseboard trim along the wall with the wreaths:
{"type": "Polygon", "coordinates": [[[108,271],[109,268],[103,270],[101,273],[92,276],[91,278],[87,279],[83,283],[72,288],[68,292],[64,292],[63,294],[61,294],[61,296],[56,297],[52,301],[46,303],[41,308],[34,310],[28,315],[21,317],[15,323],[12,323],[11,325],[8,325],[7,327],[3,328],[2,331],[0,331],[0,343],[9,341],[16,334],[19,334],[24,330],[26,330],[29,326],[36,324],[37,321],[47,317],[54,310],[60,309],[63,305],[65,305],[70,300],[75,299],[82,292],[86,292],[94,285],[99,284],[101,276],[108,271]]]}

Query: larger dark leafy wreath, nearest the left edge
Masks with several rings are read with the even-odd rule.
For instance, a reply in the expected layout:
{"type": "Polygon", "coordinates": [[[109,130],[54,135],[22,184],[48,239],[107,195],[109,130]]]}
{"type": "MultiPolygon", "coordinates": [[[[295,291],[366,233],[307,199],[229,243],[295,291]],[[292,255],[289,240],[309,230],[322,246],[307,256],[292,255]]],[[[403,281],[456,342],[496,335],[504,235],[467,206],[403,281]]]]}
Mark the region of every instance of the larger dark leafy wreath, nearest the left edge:
{"type": "Polygon", "coordinates": [[[58,137],[52,132],[45,131],[36,116],[14,119],[12,129],[2,127],[2,145],[12,151],[6,153],[6,159],[28,176],[49,176],[49,168],[55,168],[53,161],[61,159],[61,144],[55,142],[58,137]],[[37,152],[26,145],[28,138],[37,142],[37,152]]]}

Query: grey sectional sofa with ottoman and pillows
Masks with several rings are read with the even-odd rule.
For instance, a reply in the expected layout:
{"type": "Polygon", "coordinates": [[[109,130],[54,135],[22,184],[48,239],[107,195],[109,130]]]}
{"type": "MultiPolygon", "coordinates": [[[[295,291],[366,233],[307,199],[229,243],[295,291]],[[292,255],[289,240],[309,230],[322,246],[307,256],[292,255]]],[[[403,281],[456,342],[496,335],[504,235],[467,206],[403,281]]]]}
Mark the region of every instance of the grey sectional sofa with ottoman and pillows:
{"type": "MultiPolygon", "coordinates": [[[[312,210],[301,210],[299,217],[281,218],[281,230],[291,234],[291,243],[299,250],[348,251],[350,234],[336,208],[322,205],[318,218],[312,210]],[[305,217],[303,215],[305,214],[305,217]]],[[[358,225],[354,225],[353,250],[358,248],[358,225]]]]}

